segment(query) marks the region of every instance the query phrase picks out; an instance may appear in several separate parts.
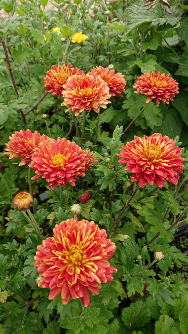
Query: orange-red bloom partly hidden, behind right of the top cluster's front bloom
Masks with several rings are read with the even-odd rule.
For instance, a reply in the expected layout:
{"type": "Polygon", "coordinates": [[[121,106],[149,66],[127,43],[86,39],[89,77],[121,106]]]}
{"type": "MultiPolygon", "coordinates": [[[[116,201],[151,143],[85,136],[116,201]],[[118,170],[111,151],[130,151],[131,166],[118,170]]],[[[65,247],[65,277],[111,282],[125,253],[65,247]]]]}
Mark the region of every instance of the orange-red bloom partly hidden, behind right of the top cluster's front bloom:
{"type": "Polygon", "coordinates": [[[93,67],[89,72],[90,75],[99,75],[108,85],[109,94],[111,99],[114,96],[123,96],[121,93],[125,93],[126,81],[122,73],[115,73],[114,69],[104,68],[101,65],[93,67]]]}

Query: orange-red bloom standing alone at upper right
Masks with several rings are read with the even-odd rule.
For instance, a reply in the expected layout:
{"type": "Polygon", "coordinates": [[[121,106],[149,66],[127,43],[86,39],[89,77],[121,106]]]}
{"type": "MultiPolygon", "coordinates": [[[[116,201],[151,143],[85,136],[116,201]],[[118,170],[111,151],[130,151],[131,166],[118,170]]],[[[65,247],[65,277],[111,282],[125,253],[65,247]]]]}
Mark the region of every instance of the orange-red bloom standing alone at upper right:
{"type": "Polygon", "coordinates": [[[169,101],[173,101],[173,97],[179,93],[178,83],[170,78],[169,74],[166,76],[165,73],[154,71],[151,75],[145,72],[143,76],[137,77],[133,88],[136,88],[134,93],[147,96],[146,103],[155,98],[157,106],[160,101],[163,104],[169,104],[169,101]]]}

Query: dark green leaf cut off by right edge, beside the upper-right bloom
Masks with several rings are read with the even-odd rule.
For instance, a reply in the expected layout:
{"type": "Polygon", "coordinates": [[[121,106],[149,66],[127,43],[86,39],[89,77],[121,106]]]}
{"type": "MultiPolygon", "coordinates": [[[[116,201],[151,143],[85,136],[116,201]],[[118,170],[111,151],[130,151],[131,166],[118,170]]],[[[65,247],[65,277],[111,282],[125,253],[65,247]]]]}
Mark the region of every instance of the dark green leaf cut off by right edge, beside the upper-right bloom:
{"type": "Polygon", "coordinates": [[[179,93],[174,101],[172,102],[172,105],[178,110],[178,112],[181,114],[181,117],[185,124],[188,126],[188,98],[186,92],[179,93]]]}

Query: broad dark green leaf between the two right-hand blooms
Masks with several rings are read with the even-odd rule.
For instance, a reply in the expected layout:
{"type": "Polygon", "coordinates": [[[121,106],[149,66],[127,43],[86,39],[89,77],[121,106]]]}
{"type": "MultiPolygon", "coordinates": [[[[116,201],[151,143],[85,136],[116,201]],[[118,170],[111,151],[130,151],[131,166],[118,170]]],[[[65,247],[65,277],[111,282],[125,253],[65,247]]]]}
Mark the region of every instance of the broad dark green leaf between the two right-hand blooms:
{"type": "Polygon", "coordinates": [[[181,129],[183,126],[183,121],[181,116],[175,109],[168,109],[167,115],[163,119],[162,125],[155,129],[155,132],[162,133],[163,136],[168,136],[169,138],[175,138],[177,135],[180,136],[181,129]]]}

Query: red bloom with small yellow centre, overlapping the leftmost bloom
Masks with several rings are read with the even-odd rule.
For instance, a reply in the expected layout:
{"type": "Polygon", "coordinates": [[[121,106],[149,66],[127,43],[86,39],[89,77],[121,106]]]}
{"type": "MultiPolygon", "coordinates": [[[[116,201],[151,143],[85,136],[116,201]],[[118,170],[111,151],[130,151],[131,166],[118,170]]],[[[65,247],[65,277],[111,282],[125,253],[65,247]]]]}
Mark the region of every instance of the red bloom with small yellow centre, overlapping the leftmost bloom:
{"type": "Polygon", "coordinates": [[[85,176],[85,151],[74,141],[66,138],[48,139],[35,149],[29,167],[35,169],[36,175],[46,178],[49,187],[65,187],[66,182],[75,185],[75,179],[85,176]]]}

